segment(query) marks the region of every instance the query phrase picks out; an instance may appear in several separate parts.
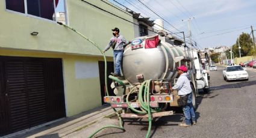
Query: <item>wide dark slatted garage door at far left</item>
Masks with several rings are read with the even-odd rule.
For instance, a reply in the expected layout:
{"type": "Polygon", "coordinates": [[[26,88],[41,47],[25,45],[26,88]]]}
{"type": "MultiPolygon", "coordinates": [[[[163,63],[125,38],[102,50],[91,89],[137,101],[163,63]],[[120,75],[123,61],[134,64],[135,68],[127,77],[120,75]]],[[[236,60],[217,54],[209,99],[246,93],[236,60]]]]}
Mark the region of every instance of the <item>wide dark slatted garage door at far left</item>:
{"type": "Polygon", "coordinates": [[[0,135],[66,116],[61,59],[0,56],[0,135]]]}

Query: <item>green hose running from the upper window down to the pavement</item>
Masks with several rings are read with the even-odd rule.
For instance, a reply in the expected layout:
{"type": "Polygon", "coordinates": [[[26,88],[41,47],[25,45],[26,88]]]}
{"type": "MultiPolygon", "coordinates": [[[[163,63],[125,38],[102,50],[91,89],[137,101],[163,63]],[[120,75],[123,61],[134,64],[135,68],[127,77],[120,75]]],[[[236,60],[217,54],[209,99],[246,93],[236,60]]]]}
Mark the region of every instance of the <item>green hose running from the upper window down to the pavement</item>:
{"type": "MultiPolygon", "coordinates": [[[[105,86],[106,86],[106,93],[107,93],[107,95],[109,96],[109,94],[108,94],[108,89],[107,89],[107,59],[106,59],[106,57],[105,57],[105,54],[102,52],[102,50],[99,48],[99,46],[98,46],[96,43],[94,43],[93,41],[91,41],[89,38],[85,37],[85,36],[84,36],[83,34],[81,34],[80,32],[76,31],[76,30],[73,29],[73,28],[70,28],[70,27],[67,26],[67,25],[64,25],[64,24],[61,23],[61,22],[57,22],[57,23],[60,24],[60,25],[65,26],[66,28],[71,29],[71,30],[74,31],[74,32],[76,32],[76,34],[78,34],[78,35],[80,35],[81,37],[83,37],[83,38],[85,38],[86,40],[88,40],[90,43],[93,44],[93,46],[95,46],[95,47],[101,52],[101,54],[102,54],[103,57],[104,57],[104,63],[105,63],[105,86]]],[[[111,77],[111,76],[110,76],[110,77],[111,77]]],[[[110,78],[110,79],[111,79],[111,78],[110,78]]],[[[125,92],[125,85],[124,85],[120,80],[116,80],[116,81],[119,82],[121,85],[124,86],[124,92],[125,92]]],[[[120,127],[119,127],[119,126],[116,126],[116,125],[106,125],[105,127],[102,127],[102,128],[100,128],[99,130],[96,130],[95,133],[91,134],[89,137],[93,137],[96,133],[98,133],[99,131],[103,130],[104,128],[118,128],[118,129],[120,129],[120,130],[125,131],[125,128],[123,128],[123,122],[122,122],[122,118],[121,118],[120,114],[119,114],[119,113],[116,111],[116,109],[114,109],[113,107],[112,107],[112,109],[114,110],[114,112],[115,112],[115,113],[117,114],[117,116],[119,117],[119,124],[120,124],[120,127]]]]}

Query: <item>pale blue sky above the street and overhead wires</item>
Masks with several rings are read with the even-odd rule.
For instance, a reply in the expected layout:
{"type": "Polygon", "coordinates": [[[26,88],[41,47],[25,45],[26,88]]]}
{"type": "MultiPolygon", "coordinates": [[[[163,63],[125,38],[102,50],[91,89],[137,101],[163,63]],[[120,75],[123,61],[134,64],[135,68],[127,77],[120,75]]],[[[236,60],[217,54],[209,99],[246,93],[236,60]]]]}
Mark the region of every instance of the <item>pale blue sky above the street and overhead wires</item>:
{"type": "Polygon", "coordinates": [[[136,13],[140,13],[143,17],[150,17],[150,20],[160,19],[160,17],[140,3],[142,2],[168,22],[164,22],[164,28],[171,32],[184,31],[186,36],[189,34],[187,20],[192,19],[192,39],[196,41],[199,49],[232,46],[236,43],[237,38],[242,32],[251,33],[251,25],[256,30],[255,0],[109,1],[122,7],[114,2],[117,1],[136,13]]]}

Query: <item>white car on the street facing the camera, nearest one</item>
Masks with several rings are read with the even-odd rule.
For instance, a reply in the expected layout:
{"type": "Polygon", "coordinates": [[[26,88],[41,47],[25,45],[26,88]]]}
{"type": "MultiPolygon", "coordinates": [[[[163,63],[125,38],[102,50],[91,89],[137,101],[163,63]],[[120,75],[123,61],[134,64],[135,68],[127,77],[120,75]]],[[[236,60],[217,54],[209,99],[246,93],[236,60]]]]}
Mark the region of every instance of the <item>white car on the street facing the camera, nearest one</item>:
{"type": "Polygon", "coordinates": [[[233,65],[226,67],[223,70],[223,78],[226,81],[229,80],[248,80],[248,73],[240,65],[233,65]]]}

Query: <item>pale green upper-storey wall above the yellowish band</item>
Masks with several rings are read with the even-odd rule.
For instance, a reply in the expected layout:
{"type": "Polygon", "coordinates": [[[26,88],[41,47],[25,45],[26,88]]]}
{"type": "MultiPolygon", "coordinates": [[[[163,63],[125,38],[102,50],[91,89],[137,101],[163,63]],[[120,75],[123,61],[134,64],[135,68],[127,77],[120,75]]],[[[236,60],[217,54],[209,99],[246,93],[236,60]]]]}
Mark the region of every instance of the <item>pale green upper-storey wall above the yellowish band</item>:
{"type": "MultiPolygon", "coordinates": [[[[89,2],[133,22],[132,16],[104,2],[89,2]]],[[[1,1],[0,5],[0,47],[92,56],[101,55],[88,41],[57,23],[6,11],[4,1],[1,1]],[[33,31],[39,32],[39,35],[31,35],[30,33],[33,31]]],[[[95,41],[102,49],[112,37],[111,29],[114,27],[118,27],[120,34],[123,34],[127,40],[134,37],[132,23],[105,13],[82,1],[67,1],[67,14],[69,25],[90,40],[95,41]]],[[[107,55],[111,56],[112,52],[107,52],[107,55]]]]}

